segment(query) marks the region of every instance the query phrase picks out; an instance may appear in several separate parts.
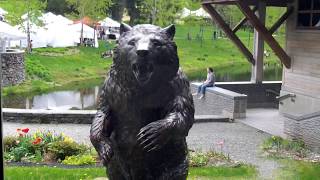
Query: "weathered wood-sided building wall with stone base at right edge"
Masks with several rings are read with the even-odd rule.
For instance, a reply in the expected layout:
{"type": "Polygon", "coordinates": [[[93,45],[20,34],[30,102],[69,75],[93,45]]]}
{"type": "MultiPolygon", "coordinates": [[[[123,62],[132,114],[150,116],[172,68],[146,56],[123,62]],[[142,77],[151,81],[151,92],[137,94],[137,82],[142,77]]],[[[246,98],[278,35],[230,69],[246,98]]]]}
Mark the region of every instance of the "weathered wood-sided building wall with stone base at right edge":
{"type": "Polygon", "coordinates": [[[291,5],[295,11],[287,20],[286,50],[292,63],[284,69],[281,94],[296,97],[282,100],[280,113],[286,117],[284,131],[289,137],[319,151],[320,117],[297,119],[320,111],[320,30],[298,29],[297,0],[291,5]]]}

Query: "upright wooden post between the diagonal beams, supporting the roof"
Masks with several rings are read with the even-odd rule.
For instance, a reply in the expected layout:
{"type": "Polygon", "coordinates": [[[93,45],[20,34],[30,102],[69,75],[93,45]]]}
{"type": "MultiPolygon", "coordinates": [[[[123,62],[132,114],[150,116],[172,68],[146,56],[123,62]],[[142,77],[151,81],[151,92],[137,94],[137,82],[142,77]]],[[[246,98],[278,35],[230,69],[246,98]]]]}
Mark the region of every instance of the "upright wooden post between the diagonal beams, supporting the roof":
{"type": "MultiPolygon", "coordinates": [[[[266,2],[259,1],[258,11],[256,12],[260,22],[265,25],[266,21],[266,2]]],[[[263,56],[264,56],[264,40],[260,32],[254,29],[254,41],[253,41],[253,57],[256,61],[255,65],[252,65],[251,70],[251,82],[260,84],[263,81],[263,56]]]]}

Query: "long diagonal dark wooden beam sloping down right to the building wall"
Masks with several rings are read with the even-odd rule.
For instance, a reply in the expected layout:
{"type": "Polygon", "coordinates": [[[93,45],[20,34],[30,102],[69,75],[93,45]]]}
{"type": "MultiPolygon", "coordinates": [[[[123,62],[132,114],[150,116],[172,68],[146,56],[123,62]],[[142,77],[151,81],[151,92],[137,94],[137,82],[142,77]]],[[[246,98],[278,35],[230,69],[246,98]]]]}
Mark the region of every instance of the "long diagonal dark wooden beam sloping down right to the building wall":
{"type": "Polygon", "coordinates": [[[244,0],[238,1],[238,7],[242,11],[242,13],[247,16],[248,20],[255,27],[255,29],[261,33],[264,40],[268,43],[270,48],[275,52],[280,61],[287,67],[291,66],[291,58],[288,54],[282,49],[279,43],[273,38],[272,34],[269,30],[260,22],[254,12],[250,9],[250,7],[244,3],[244,0]]]}

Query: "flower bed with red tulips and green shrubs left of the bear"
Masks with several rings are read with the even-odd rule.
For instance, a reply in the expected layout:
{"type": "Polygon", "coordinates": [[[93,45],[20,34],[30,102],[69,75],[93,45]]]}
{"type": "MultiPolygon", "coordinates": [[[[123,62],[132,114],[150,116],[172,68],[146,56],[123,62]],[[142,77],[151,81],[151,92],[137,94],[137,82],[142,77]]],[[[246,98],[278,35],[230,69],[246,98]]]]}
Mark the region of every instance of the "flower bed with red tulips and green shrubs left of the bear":
{"type": "Polygon", "coordinates": [[[100,163],[96,151],[78,144],[64,134],[37,131],[28,134],[28,128],[18,128],[16,136],[4,137],[6,162],[62,163],[85,165],[100,163]]]}

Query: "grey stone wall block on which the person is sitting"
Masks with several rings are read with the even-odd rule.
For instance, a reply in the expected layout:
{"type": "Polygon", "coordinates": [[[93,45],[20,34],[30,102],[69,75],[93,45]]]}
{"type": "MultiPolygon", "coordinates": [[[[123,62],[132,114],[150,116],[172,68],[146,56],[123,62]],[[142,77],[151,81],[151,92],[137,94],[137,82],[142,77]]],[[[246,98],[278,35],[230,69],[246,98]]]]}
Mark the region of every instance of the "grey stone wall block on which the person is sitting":
{"type": "MultiPolygon", "coordinates": [[[[192,83],[192,93],[197,92],[201,83],[192,83]]],[[[247,96],[219,87],[206,89],[202,99],[194,97],[196,115],[218,115],[230,119],[245,118],[247,109],[247,96]]]]}

